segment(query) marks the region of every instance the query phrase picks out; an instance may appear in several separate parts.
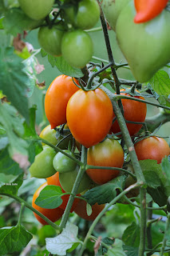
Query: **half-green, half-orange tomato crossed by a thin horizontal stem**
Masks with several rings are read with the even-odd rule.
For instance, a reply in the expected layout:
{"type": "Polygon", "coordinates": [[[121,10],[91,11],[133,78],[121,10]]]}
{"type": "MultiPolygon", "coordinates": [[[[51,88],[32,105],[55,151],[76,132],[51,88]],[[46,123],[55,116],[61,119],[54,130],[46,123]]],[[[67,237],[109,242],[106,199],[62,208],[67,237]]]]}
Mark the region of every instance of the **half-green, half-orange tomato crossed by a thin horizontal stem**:
{"type": "MultiPolygon", "coordinates": [[[[124,163],[124,151],[121,144],[113,138],[92,146],[88,150],[87,163],[90,166],[109,166],[121,168],[124,163]]],[[[97,184],[104,184],[119,174],[119,170],[88,169],[89,178],[97,184]]]]}

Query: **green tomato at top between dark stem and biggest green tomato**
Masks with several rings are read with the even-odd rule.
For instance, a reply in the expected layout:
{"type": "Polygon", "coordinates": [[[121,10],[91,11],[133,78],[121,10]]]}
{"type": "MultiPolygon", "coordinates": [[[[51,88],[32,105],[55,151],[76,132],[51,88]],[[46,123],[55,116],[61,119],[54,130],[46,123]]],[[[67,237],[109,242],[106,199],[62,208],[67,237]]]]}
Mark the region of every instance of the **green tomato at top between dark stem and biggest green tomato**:
{"type": "Polygon", "coordinates": [[[102,8],[109,26],[115,30],[117,18],[129,0],[103,0],[102,8]]]}

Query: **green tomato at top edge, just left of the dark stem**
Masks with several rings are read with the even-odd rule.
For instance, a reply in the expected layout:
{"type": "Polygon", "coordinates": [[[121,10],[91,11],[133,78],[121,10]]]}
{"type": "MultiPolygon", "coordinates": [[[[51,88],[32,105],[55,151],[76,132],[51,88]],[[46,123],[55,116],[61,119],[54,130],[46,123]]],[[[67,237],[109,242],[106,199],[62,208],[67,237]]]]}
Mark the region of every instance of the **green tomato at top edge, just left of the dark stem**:
{"type": "Polygon", "coordinates": [[[96,25],[100,17],[100,9],[96,0],[82,0],[77,6],[65,8],[66,17],[73,26],[81,30],[89,30],[96,25]]]}

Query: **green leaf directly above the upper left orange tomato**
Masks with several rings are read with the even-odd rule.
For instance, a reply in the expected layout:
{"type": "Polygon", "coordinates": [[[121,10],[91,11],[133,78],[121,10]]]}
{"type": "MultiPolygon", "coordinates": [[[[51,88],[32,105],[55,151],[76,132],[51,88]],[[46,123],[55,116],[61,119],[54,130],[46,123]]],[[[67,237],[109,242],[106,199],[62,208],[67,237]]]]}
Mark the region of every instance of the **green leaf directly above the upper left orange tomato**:
{"type": "MultiPolygon", "coordinates": [[[[45,57],[47,55],[44,50],[42,50],[41,53],[42,57],[45,57]]],[[[54,57],[48,54],[48,61],[51,66],[57,66],[57,69],[61,72],[61,74],[66,74],[73,78],[82,78],[84,76],[80,69],[70,66],[69,63],[65,61],[65,58],[63,58],[62,56],[54,57]]]]}

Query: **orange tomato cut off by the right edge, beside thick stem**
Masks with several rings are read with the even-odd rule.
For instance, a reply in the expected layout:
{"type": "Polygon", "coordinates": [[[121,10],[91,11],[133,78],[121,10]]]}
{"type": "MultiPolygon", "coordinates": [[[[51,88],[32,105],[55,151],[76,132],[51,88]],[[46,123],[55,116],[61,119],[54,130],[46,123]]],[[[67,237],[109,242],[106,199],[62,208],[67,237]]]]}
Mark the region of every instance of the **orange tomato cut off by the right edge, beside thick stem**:
{"type": "Polygon", "coordinates": [[[138,160],[152,159],[156,160],[158,164],[162,161],[162,158],[170,154],[168,143],[164,138],[156,136],[136,142],[135,150],[138,160]]]}

